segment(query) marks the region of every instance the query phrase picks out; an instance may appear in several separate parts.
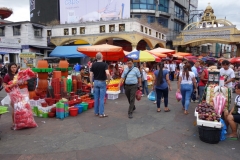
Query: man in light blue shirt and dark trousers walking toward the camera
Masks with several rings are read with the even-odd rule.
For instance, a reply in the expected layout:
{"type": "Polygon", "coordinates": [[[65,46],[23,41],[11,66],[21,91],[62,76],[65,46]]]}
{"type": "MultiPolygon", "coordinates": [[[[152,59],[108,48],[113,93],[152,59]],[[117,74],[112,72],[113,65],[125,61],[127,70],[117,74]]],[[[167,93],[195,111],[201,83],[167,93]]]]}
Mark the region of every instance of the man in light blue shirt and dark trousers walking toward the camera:
{"type": "Polygon", "coordinates": [[[142,90],[142,78],[140,71],[137,67],[134,67],[133,59],[127,60],[127,68],[124,69],[119,83],[119,88],[123,83],[125,89],[125,95],[128,99],[129,108],[128,108],[128,117],[133,118],[133,111],[136,109],[135,106],[135,95],[139,87],[142,90]]]}

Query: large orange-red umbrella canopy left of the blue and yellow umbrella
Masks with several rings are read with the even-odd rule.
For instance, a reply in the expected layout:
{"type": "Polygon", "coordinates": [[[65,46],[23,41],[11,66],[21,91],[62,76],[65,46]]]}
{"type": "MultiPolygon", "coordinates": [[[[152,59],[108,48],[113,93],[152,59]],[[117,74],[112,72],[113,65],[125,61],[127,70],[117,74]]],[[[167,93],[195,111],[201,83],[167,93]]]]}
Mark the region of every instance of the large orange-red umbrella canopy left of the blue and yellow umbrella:
{"type": "Polygon", "coordinates": [[[103,59],[107,61],[118,61],[121,58],[124,58],[122,47],[109,44],[78,47],[77,51],[87,55],[88,57],[96,57],[96,54],[101,52],[103,59]]]}

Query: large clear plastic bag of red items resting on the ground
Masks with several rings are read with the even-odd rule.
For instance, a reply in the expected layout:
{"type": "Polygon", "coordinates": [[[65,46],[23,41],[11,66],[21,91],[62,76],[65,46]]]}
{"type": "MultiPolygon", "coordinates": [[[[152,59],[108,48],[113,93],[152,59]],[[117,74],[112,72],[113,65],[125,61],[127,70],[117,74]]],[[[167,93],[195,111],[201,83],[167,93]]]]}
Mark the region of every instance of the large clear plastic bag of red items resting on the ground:
{"type": "Polygon", "coordinates": [[[14,104],[14,130],[35,128],[37,123],[33,118],[32,108],[25,100],[14,104]]]}

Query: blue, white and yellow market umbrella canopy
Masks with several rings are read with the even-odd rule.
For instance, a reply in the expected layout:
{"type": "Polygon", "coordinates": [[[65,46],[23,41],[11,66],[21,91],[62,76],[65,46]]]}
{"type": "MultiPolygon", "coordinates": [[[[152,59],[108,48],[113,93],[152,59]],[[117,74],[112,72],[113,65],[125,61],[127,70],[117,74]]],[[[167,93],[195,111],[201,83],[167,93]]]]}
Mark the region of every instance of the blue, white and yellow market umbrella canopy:
{"type": "Polygon", "coordinates": [[[132,58],[133,60],[138,60],[140,62],[152,62],[156,60],[156,58],[151,53],[138,50],[133,50],[132,52],[128,53],[126,57],[132,58]]]}

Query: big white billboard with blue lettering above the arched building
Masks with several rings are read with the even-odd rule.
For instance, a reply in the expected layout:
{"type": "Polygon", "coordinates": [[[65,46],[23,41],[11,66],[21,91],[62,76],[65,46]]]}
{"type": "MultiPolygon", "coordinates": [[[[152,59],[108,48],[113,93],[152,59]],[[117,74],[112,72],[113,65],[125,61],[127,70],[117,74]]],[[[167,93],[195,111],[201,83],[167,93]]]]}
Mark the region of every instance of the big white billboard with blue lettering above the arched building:
{"type": "Polygon", "coordinates": [[[60,23],[130,18],[130,0],[60,0],[60,23]]]}

